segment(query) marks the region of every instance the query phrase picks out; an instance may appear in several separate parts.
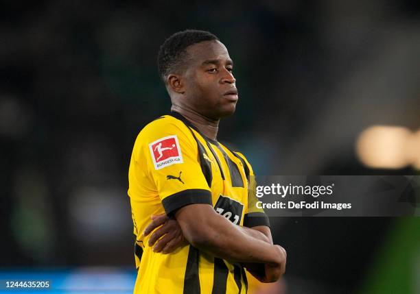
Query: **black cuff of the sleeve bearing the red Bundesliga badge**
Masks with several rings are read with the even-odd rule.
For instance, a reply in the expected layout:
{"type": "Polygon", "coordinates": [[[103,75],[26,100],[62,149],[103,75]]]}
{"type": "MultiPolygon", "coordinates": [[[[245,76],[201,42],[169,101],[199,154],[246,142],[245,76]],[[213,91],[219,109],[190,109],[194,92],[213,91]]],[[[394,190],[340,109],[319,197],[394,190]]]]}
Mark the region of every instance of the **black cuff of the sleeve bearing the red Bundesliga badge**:
{"type": "Polygon", "coordinates": [[[189,204],[210,204],[211,192],[204,189],[189,189],[165,197],[162,200],[167,216],[175,214],[179,208],[189,204]]]}

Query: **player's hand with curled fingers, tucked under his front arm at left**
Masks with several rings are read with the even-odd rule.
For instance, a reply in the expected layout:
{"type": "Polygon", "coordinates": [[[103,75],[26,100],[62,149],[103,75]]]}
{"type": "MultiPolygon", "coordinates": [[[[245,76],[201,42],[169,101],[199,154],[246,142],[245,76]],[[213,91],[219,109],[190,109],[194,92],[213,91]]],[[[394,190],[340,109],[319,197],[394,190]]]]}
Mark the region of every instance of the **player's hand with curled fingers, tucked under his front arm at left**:
{"type": "Polygon", "coordinates": [[[143,231],[143,236],[148,236],[150,232],[158,228],[153,232],[152,236],[150,236],[148,242],[149,246],[154,245],[154,252],[167,254],[173,252],[177,247],[181,247],[183,243],[185,243],[183,231],[180,229],[180,226],[175,219],[171,219],[165,214],[152,215],[150,218],[152,221],[143,231]]]}

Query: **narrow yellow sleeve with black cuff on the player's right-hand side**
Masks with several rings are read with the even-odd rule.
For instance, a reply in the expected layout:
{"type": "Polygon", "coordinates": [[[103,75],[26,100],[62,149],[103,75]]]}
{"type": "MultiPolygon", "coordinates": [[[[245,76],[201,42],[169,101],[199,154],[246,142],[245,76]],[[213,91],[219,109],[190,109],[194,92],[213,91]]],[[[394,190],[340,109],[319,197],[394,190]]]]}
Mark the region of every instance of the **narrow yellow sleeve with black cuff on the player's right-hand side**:
{"type": "Polygon", "coordinates": [[[266,225],[270,227],[270,220],[268,219],[266,212],[264,212],[263,208],[257,207],[257,201],[259,200],[256,193],[257,181],[255,180],[253,168],[243,154],[240,154],[239,152],[235,153],[240,156],[248,179],[248,206],[244,215],[244,226],[252,228],[257,225],[266,225]]]}

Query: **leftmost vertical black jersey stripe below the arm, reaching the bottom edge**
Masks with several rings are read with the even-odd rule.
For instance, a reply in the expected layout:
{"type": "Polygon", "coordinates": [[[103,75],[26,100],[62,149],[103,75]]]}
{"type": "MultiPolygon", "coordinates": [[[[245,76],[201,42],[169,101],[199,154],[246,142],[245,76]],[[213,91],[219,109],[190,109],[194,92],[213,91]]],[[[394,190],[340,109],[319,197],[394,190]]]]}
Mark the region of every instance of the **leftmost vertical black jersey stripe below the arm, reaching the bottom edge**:
{"type": "Polygon", "coordinates": [[[198,276],[198,249],[189,245],[187,267],[185,267],[184,294],[200,294],[200,278],[198,276]]]}

